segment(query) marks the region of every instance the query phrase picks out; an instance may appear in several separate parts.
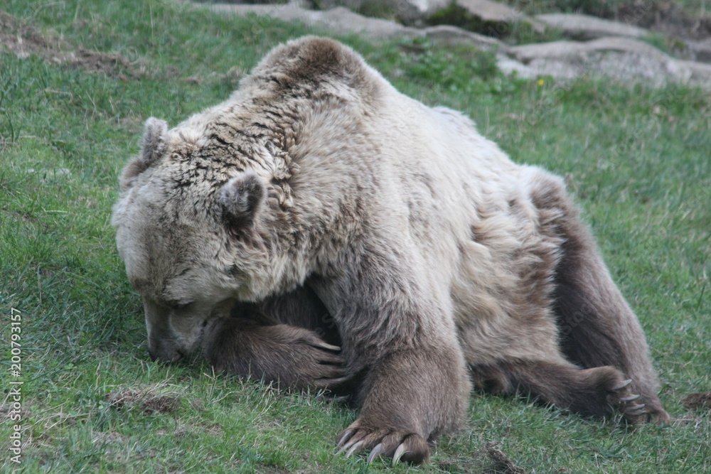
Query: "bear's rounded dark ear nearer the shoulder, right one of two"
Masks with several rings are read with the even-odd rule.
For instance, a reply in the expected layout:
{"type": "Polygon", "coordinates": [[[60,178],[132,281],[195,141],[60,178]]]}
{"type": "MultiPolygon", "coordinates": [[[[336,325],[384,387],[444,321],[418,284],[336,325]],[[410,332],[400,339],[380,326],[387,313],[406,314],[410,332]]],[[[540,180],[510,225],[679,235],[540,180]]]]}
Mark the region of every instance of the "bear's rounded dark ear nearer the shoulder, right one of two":
{"type": "Polygon", "coordinates": [[[267,186],[262,178],[247,171],[231,178],[220,191],[223,216],[233,230],[252,225],[255,215],[267,197],[267,186]]]}

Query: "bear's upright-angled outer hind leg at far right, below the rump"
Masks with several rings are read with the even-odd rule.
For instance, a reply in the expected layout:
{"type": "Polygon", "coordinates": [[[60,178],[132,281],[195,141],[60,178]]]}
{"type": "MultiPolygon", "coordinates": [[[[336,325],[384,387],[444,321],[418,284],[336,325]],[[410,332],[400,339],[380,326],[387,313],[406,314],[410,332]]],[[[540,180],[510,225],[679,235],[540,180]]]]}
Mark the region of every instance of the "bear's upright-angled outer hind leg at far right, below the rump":
{"type": "Polygon", "coordinates": [[[642,328],[612,281],[592,236],[570,203],[560,181],[542,176],[532,190],[542,215],[555,215],[542,232],[562,237],[562,256],[555,271],[554,311],[565,357],[584,368],[611,365],[632,379],[631,391],[647,414],[626,416],[632,423],[669,421],[657,396],[642,328]]]}

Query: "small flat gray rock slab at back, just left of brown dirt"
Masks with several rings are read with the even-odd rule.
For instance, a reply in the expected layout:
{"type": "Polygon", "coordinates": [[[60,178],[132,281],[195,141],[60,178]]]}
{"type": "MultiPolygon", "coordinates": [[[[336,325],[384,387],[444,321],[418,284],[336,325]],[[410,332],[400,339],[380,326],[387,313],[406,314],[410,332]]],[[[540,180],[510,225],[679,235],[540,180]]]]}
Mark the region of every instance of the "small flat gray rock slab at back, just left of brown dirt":
{"type": "Polygon", "coordinates": [[[649,31],[644,28],[588,15],[546,14],[537,15],[535,18],[553,28],[562,30],[565,36],[577,40],[593,40],[609,36],[641,38],[649,34],[649,31]]]}

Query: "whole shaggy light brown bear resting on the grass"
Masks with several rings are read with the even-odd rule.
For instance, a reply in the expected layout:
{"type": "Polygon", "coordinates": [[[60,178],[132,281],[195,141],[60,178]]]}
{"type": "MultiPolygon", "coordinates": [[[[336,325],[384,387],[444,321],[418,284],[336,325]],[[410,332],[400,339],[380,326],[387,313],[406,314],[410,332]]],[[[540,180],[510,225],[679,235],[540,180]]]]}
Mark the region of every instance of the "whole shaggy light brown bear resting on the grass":
{"type": "Polygon", "coordinates": [[[239,375],[350,379],[348,454],[426,461],[463,419],[470,377],[584,414],[668,419],[637,318],[562,180],[335,41],[275,48],[174,129],[149,119],[121,183],[113,223],[151,357],[203,344],[239,375]]]}

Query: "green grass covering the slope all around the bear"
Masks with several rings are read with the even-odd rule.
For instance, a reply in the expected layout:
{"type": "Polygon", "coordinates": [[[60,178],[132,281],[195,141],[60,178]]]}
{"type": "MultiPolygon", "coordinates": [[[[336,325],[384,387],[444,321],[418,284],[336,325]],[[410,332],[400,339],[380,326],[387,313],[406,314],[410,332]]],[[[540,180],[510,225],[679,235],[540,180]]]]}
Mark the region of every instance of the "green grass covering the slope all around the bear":
{"type": "MultiPolygon", "coordinates": [[[[146,118],[176,124],[215,104],[235,87],[234,71],[309,31],[157,0],[9,0],[1,8],[63,48],[132,62],[89,73],[0,51],[1,362],[9,373],[16,308],[25,472],[388,471],[336,455],[336,433],[355,419],[341,404],[213,375],[198,358],[149,362],[141,302],[109,225],[117,176],[137,153],[146,118]],[[132,393],[144,398],[115,402],[132,393]]],[[[517,80],[469,48],[341,39],[407,95],[469,114],[515,161],[567,177],[641,318],[675,419],[627,429],[473,394],[465,429],[437,444],[431,465],[392,472],[480,472],[491,465],[487,442],[529,472],[711,470],[709,412],[680,403],[711,389],[709,95],[517,80]]],[[[0,443],[10,446],[11,432],[4,419],[0,443]]],[[[14,467],[9,456],[3,463],[14,467]]]]}

